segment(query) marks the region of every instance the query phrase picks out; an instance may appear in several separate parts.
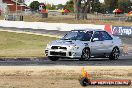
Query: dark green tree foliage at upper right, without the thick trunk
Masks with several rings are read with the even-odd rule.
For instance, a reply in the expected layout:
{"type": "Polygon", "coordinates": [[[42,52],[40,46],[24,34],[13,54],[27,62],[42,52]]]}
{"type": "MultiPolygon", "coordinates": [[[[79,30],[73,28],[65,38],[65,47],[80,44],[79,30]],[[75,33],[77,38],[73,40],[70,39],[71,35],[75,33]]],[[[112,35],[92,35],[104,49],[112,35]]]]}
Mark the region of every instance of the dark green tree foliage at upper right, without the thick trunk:
{"type": "Polygon", "coordinates": [[[73,7],[76,9],[75,5],[79,8],[81,5],[83,7],[84,3],[88,6],[88,13],[112,13],[113,10],[117,8],[120,9],[122,13],[127,13],[132,10],[132,0],[104,0],[103,3],[99,0],[69,0],[66,6],[69,10],[73,11],[73,7]]]}

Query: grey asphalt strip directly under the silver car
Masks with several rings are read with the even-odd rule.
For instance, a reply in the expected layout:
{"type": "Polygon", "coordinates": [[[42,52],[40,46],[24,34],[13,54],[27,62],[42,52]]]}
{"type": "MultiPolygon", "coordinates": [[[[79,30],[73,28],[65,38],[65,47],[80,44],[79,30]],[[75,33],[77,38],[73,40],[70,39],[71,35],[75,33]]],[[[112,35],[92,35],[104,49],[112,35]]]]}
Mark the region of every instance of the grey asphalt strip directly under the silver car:
{"type": "Polygon", "coordinates": [[[132,55],[121,56],[118,60],[91,58],[89,61],[79,61],[78,59],[50,61],[48,58],[1,58],[0,66],[132,66],[132,55]]]}

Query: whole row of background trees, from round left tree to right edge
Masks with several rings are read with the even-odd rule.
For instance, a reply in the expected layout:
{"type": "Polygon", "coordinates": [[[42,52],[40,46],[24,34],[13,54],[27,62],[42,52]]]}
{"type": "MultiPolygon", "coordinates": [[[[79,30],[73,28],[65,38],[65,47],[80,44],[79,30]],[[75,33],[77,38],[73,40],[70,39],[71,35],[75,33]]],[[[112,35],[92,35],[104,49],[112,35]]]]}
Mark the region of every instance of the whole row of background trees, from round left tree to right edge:
{"type": "MultiPolygon", "coordinates": [[[[33,1],[30,4],[32,10],[38,10],[38,6],[38,1],[33,1]]],[[[132,10],[132,0],[104,0],[103,3],[99,0],[69,0],[65,5],[47,4],[46,6],[49,10],[55,10],[60,7],[68,9],[70,12],[75,12],[78,9],[85,10],[87,13],[112,13],[114,9],[118,8],[122,13],[127,13],[132,10]]]]}

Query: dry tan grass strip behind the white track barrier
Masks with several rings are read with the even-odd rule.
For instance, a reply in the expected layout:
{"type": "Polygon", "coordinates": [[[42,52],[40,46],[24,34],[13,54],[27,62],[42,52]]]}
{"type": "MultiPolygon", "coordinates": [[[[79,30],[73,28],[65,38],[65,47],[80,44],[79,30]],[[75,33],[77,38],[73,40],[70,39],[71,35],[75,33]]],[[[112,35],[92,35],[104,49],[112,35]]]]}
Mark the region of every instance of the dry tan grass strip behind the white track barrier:
{"type": "Polygon", "coordinates": [[[59,15],[41,18],[40,16],[25,16],[25,21],[29,22],[49,22],[49,23],[70,23],[70,24],[98,24],[98,25],[115,25],[115,26],[131,26],[131,22],[124,21],[108,21],[108,20],[75,20],[74,15],[59,15]]]}

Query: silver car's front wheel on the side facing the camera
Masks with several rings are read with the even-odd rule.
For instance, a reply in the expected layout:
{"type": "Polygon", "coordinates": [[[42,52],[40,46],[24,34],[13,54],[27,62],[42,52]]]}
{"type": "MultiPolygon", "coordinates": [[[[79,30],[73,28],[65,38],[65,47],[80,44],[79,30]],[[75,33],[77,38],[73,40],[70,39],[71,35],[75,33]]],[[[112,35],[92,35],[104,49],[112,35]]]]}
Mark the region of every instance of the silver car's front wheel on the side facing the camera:
{"type": "Polygon", "coordinates": [[[79,59],[80,61],[89,60],[90,59],[90,49],[84,48],[82,51],[82,56],[79,59]]]}

